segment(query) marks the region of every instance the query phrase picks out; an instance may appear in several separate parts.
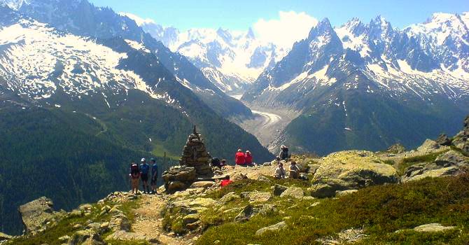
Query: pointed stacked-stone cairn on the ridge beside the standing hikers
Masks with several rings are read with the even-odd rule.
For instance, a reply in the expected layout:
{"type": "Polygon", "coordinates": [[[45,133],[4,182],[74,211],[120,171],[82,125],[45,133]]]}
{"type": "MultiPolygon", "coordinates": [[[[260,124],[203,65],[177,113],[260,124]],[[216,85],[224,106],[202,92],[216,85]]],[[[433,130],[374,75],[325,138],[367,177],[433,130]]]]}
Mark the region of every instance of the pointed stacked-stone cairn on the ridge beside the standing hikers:
{"type": "Polygon", "coordinates": [[[184,190],[197,180],[210,179],[213,173],[209,159],[210,155],[207,153],[202,136],[197,133],[194,126],[193,134],[189,135],[183,148],[179,166],[171,167],[162,174],[166,190],[170,193],[184,190]]]}

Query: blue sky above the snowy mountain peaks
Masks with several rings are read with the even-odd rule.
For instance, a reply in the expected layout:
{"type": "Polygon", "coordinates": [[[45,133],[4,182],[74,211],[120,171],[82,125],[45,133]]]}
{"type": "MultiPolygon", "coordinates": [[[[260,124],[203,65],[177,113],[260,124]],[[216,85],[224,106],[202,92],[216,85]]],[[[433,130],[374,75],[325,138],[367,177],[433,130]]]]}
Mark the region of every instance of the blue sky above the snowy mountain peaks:
{"type": "Polygon", "coordinates": [[[109,6],[116,12],[127,12],[151,18],[158,24],[179,29],[228,28],[245,30],[258,20],[279,18],[279,11],[304,12],[321,20],[329,18],[332,25],[342,25],[357,17],[364,22],[382,15],[394,27],[407,27],[423,22],[432,13],[469,11],[468,0],[90,0],[96,6],[109,6]]]}

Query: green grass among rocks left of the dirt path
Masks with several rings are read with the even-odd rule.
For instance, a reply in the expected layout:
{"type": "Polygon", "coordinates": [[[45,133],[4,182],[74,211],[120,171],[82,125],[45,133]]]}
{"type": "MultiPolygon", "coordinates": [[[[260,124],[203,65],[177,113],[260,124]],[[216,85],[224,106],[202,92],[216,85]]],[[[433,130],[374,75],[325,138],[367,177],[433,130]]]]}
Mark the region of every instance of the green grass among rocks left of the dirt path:
{"type": "MultiPolygon", "coordinates": [[[[92,212],[90,216],[80,216],[80,217],[66,217],[63,218],[61,221],[57,223],[57,225],[53,225],[52,227],[48,228],[44,232],[40,232],[34,236],[28,236],[28,237],[18,237],[17,239],[13,239],[10,241],[10,244],[15,244],[15,245],[37,245],[37,244],[49,244],[49,245],[60,245],[62,244],[58,238],[63,237],[65,235],[68,235],[69,237],[73,236],[73,233],[77,232],[78,230],[83,230],[83,228],[78,228],[75,229],[73,228],[73,225],[76,224],[81,224],[83,227],[85,226],[85,223],[87,221],[92,221],[92,222],[97,222],[97,223],[102,223],[104,221],[109,221],[111,218],[111,214],[104,214],[104,215],[99,215],[101,213],[101,208],[109,205],[113,206],[113,204],[106,202],[103,205],[102,204],[93,204],[92,212]]],[[[133,220],[134,218],[134,210],[139,207],[139,203],[134,200],[134,201],[129,201],[129,202],[124,202],[121,204],[119,207],[120,211],[123,211],[123,213],[129,218],[130,221],[133,220]]],[[[102,235],[102,237],[106,237],[106,235],[109,235],[110,232],[107,234],[102,235]]],[[[115,244],[115,243],[112,243],[115,244]]],[[[116,244],[125,244],[125,243],[116,243],[116,244]]],[[[138,243],[137,243],[138,244],[138,243]]]]}

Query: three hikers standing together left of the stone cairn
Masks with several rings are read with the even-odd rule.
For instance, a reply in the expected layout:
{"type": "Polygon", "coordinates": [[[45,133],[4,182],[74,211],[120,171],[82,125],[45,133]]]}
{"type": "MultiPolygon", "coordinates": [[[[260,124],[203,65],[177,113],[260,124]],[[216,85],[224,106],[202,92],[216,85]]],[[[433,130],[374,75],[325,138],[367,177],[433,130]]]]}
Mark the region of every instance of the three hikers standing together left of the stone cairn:
{"type": "Polygon", "coordinates": [[[132,162],[130,165],[130,180],[132,181],[132,194],[139,194],[139,182],[142,181],[144,193],[158,194],[156,192],[156,181],[158,179],[158,165],[155,158],[151,158],[151,165],[148,165],[145,158],[141,159],[140,165],[132,162]],[[150,178],[150,185],[148,185],[150,178]],[[151,191],[150,191],[151,186],[151,191]]]}

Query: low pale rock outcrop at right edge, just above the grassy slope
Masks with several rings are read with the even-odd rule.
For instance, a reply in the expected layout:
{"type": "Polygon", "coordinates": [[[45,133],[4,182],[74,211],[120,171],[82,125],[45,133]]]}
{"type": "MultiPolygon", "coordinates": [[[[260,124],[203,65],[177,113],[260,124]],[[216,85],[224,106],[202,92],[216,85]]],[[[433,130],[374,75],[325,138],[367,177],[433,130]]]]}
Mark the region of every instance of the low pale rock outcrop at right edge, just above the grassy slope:
{"type": "Polygon", "coordinates": [[[447,151],[439,155],[434,162],[423,162],[405,169],[402,182],[417,181],[426,177],[455,176],[469,167],[469,158],[457,151],[447,151]]]}

